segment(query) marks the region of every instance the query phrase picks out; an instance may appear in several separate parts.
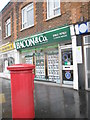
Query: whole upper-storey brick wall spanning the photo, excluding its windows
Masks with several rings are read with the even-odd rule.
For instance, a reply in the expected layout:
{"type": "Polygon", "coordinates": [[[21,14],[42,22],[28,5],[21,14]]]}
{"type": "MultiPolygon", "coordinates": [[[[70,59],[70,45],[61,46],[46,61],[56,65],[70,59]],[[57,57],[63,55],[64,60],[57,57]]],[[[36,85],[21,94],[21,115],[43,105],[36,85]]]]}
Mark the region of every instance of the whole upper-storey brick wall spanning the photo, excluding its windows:
{"type": "MultiPolygon", "coordinates": [[[[44,0],[45,1],[45,0],[44,0]]],[[[90,2],[89,3],[71,3],[62,2],[61,15],[46,20],[47,18],[47,3],[46,2],[34,2],[34,27],[22,30],[22,15],[21,10],[28,5],[29,2],[9,3],[2,11],[2,39],[3,43],[13,41],[16,39],[31,36],[51,28],[63,26],[65,24],[76,24],[81,22],[81,18],[84,21],[90,20],[90,2]],[[5,38],[5,21],[11,18],[11,36],[5,38]]]]}

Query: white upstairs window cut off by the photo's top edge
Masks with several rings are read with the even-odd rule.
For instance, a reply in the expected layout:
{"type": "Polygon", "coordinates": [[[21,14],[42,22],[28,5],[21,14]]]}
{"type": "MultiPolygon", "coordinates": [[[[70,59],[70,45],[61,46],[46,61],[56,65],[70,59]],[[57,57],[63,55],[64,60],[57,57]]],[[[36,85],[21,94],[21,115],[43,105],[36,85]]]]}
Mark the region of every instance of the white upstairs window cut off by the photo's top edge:
{"type": "Polygon", "coordinates": [[[47,19],[60,15],[60,0],[47,0],[47,19]]]}

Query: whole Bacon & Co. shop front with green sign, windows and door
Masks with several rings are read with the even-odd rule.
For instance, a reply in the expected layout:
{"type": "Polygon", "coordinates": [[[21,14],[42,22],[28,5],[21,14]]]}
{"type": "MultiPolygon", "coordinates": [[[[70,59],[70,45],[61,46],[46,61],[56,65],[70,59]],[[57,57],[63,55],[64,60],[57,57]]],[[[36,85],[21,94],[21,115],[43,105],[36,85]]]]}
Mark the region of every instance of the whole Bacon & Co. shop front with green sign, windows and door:
{"type": "Polygon", "coordinates": [[[76,36],[70,26],[17,40],[15,46],[20,63],[35,64],[35,80],[78,89],[76,36]]]}

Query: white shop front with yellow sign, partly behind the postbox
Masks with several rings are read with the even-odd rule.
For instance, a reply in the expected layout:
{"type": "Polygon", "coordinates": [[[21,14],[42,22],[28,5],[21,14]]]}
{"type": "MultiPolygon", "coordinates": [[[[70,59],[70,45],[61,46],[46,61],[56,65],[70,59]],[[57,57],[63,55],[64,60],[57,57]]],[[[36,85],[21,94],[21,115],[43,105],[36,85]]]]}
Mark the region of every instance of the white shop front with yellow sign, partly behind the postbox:
{"type": "Polygon", "coordinates": [[[0,47],[0,77],[10,77],[7,67],[16,63],[16,53],[13,43],[8,42],[0,47]]]}

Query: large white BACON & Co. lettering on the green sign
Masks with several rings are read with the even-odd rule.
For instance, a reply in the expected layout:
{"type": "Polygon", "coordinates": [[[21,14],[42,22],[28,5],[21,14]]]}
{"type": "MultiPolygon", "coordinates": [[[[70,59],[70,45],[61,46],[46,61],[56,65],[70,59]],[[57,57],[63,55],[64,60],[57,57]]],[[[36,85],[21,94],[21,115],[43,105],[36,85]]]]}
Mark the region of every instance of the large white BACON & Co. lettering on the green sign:
{"type": "Polygon", "coordinates": [[[16,42],[16,48],[20,49],[20,48],[25,48],[25,47],[30,47],[30,46],[35,46],[39,43],[43,43],[43,42],[47,42],[48,39],[46,36],[39,36],[39,37],[35,37],[35,38],[28,38],[26,40],[22,40],[22,41],[17,41],[16,42]]]}

